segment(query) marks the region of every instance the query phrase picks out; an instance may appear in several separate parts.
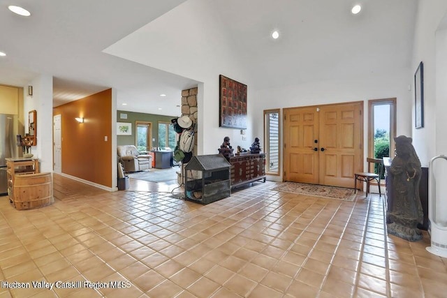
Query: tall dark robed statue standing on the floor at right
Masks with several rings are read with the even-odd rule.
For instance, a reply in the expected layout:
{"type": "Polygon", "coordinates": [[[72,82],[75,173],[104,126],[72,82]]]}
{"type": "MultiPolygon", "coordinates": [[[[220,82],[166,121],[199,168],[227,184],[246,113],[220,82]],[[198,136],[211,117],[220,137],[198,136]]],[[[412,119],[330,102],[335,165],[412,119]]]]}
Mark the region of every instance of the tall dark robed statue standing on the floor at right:
{"type": "Polygon", "coordinates": [[[419,198],[419,181],[422,170],[411,137],[394,138],[396,156],[390,167],[393,177],[393,206],[388,211],[388,233],[408,241],[422,239],[417,228],[423,222],[423,209],[419,198]]]}

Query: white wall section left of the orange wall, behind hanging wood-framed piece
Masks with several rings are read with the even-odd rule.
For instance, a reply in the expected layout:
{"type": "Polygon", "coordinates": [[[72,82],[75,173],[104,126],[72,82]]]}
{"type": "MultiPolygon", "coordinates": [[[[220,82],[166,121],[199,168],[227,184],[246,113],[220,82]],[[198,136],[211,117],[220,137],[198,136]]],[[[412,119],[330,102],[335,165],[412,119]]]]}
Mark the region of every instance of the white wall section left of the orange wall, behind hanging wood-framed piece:
{"type": "Polygon", "coordinates": [[[33,96],[28,96],[28,87],[24,87],[24,125],[28,131],[28,112],[36,110],[37,117],[37,145],[31,147],[31,153],[39,158],[41,172],[52,172],[52,121],[53,121],[53,77],[38,75],[29,85],[33,87],[33,96]]]}

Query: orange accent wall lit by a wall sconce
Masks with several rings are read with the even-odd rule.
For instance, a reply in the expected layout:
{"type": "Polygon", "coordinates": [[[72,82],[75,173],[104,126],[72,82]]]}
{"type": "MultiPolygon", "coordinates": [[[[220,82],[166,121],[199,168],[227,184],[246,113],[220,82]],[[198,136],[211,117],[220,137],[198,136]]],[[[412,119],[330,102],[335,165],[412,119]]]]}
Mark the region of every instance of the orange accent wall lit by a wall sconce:
{"type": "Polygon", "coordinates": [[[53,115],[57,114],[62,173],[112,187],[112,89],[54,107],[53,115]],[[76,117],[84,117],[84,123],[76,117]]]}

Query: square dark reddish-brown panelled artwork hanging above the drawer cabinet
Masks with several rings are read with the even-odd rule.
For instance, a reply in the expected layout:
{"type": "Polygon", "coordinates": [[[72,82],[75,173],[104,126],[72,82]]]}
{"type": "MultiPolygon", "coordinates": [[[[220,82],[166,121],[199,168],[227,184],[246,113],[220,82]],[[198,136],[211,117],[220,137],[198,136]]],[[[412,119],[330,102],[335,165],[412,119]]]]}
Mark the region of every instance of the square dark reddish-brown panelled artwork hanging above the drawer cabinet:
{"type": "Polygon", "coordinates": [[[247,85],[219,75],[219,126],[247,128],[247,85]]]}

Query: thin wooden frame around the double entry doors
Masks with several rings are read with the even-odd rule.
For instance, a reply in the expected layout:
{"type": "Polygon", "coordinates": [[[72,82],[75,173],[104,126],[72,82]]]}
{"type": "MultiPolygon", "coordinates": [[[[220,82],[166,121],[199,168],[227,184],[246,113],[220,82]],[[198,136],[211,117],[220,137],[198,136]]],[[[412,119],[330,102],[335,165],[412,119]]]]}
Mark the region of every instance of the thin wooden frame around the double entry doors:
{"type": "MultiPolygon", "coordinates": [[[[319,109],[321,107],[330,107],[330,106],[334,106],[334,105],[356,105],[356,104],[360,104],[360,156],[358,158],[358,161],[360,163],[360,165],[356,165],[354,164],[354,168],[358,167],[359,169],[361,169],[360,171],[363,171],[363,164],[364,164],[364,158],[365,158],[365,140],[364,140],[364,131],[365,131],[365,101],[364,100],[357,100],[357,101],[350,101],[350,102],[343,102],[343,103],[328,103],[328,104],[324,104],[324,105],[305,105],[305,106],[300,106],[300,107],[284,107],[282,110],[282,114],[285,115],[286,114],[286,110],[294,110],[294,109],[300,109],[300,108],[311,108],[311,109],[319,109]]],[[[282,124],[282,130],[284,132],[285,130],[285,126],[286,126],[286,119],[283,119],[283,124],[282,124]]],[[[283,133],[284,135],[284,133],[283,133]]],[[[284,148],[284,139],[282,142],[282,147],[283,147],[283,157],[286,156],[286,148],[284,148]]],[[[285,158],[283,158],[282,161],[282,168],[286,169],[286,165],[285,163],[285,158]]],[[[356,170],[354,169],[354,172],[356,172],[356,170]]],[[[284,172],[282,172],[282,181],[285,181],[285,175],[284,172]]],[[[354,184],[354,177],[353,179],[353,184],[354,184]]]]}

